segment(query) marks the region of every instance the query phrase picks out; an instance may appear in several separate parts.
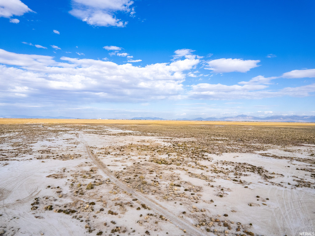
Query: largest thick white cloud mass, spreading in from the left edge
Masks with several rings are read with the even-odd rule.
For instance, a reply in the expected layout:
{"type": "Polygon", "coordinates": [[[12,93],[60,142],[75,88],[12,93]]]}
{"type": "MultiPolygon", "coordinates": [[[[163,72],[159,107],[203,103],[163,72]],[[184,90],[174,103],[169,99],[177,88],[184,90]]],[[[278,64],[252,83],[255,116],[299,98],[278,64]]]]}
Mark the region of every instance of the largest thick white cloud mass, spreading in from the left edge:
{"type": "Polygon", "coordinates": [[[140,101],[177,98],[184,91],[185,70],[198,59],[156,63],[144,67],[118,65],[109,61],[54,57],[7,52],[0,49],[0,83],[3,102],[20,101],[10,89],[28,87],[20,92],[28,102],[55,104],[69,98],[69,103],[140,101]],[[18,68],[17,68],[18,67],[18,68]],[[15,96],[15,97],[14,97],[15,96]]]}

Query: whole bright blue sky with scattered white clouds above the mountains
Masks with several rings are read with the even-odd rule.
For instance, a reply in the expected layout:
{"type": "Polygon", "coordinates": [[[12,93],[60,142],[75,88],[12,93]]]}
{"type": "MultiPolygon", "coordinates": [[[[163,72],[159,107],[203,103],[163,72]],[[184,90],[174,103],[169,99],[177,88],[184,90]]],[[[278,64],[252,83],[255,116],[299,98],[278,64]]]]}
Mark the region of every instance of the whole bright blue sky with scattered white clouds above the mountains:
{"type": "Polygon", "coordinates": [[[0,114],[315,115],[314,1],[0,0],[0,114]]]}

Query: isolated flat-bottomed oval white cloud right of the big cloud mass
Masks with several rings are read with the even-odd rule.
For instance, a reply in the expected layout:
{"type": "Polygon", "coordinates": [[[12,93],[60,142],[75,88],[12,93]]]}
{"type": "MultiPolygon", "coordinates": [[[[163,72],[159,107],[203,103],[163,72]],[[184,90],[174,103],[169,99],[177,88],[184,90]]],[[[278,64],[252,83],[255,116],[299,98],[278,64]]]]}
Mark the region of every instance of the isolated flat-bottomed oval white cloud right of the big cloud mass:
{"type": "Polygon", "coordinates": [[[208,61],[209,67],[204,69],[212,70],[212,73],[225,73],[225,72],[247,72],[252,68],[258,67],[257,63],[260,60],[243,60],[232,58],[221,58],[208,61]]]}

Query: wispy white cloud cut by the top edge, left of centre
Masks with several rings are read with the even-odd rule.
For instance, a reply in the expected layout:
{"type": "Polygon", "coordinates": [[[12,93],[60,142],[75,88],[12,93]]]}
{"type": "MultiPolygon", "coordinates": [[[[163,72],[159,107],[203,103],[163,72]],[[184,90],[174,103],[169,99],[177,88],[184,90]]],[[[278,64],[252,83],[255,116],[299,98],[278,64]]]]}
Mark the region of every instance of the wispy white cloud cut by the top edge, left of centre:
{"type": "Polygon", "coordinates": [[[89,25],[124,27],[128,22],[117,19],[117,12],[130,13],[134,16],[135,9],[130,8],[131,0],[72,0],[73,16],[89,25]]]}

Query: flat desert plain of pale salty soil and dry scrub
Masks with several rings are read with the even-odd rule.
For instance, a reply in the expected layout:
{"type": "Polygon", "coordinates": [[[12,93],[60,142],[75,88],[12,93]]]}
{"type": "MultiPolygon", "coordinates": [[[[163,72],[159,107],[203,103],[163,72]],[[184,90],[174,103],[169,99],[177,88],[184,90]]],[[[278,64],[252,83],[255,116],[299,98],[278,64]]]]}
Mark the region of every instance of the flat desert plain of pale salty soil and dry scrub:
{"type": "Polygon", "coordinates": [[[313,123],[0,119],[0,235],[312,233],[314,154],[313,123]]]}

